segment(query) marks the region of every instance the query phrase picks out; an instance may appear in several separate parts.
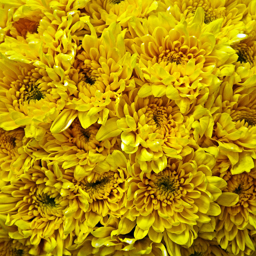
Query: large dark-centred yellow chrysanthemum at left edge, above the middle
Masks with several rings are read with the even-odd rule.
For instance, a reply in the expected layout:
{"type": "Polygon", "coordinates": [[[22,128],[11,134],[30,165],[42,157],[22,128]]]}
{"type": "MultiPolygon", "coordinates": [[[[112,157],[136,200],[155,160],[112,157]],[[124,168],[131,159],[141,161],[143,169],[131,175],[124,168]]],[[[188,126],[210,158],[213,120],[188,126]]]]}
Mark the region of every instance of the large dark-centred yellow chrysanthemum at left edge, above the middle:
{"type": "Polygon", "coordinates": [[[53,81],[44,68],[6,58],[1,64],[0,127],[12,130],[26,126],[26,137],[39,140],[45,133],[40,123],[51,123],[64,107],[66,88],[53,81]]]}

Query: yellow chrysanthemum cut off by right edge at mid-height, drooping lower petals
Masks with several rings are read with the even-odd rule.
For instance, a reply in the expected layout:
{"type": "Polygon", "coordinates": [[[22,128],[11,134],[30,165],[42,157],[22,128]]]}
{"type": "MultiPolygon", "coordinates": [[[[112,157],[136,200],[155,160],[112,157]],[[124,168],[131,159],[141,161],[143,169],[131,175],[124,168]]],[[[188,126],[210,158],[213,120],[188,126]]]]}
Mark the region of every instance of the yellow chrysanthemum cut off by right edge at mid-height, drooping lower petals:
{"type": "Polygon", "coordinates": [[[234,76],[225,78],[212,107],[214,125],[211,137],[203,136],[199,145],[218,146],[219,155],[228,156],[232,174],[249,172],[256,158],[256,100],[252,70],[238,67],[234,76]]]}

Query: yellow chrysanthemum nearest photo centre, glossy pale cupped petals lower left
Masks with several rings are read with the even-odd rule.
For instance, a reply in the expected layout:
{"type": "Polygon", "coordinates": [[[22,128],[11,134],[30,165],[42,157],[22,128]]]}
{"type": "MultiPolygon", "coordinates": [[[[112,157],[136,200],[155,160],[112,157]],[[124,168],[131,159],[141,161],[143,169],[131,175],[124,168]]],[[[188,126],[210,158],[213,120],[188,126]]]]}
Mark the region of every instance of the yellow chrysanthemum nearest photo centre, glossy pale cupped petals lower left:
{"type": "Polygon", "coordinates": [[[183,117],[174,100],[140,98],[137,92],[131,92],[129,98],[124,94],[117,102],[121,148],[143,172],[158,173],[166,167],[168,156],[181,159],[191,152],[187,146],[189,119],[183,117]]]}

